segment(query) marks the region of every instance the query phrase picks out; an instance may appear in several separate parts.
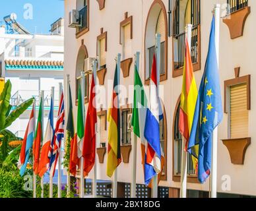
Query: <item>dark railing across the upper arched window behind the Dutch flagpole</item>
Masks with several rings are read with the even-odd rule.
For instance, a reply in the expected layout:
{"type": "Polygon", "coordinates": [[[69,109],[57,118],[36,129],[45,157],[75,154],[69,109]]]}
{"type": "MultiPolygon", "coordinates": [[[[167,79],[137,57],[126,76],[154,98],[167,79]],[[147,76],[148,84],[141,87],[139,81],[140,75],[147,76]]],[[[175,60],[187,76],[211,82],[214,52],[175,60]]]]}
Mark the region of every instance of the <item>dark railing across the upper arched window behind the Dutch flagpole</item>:
{"type": "MultiPolygon", "coordinates": [[[[160,75],[163,75],[165,73],[165,49],[166,49],[166,42],[161,42],[160,44],[160,75]]],[[[152,70],[152,61],[153,56],[155,53],[155,46],[148,47],[148,78],[151,76],[151,70],[152,70]]]]}

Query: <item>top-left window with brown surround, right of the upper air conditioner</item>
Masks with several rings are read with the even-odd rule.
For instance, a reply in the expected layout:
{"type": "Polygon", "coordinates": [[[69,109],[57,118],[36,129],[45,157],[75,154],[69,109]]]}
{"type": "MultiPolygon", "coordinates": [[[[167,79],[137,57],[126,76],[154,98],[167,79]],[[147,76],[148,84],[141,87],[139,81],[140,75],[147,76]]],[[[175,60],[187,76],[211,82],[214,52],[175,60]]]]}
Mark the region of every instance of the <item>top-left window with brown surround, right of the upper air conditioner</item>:
{"type": "Polygon", "coordinates": [[[77,0],[80,26],[77,28],[76,36],[79,38],[89,30],[89,0],[77,0]]]}

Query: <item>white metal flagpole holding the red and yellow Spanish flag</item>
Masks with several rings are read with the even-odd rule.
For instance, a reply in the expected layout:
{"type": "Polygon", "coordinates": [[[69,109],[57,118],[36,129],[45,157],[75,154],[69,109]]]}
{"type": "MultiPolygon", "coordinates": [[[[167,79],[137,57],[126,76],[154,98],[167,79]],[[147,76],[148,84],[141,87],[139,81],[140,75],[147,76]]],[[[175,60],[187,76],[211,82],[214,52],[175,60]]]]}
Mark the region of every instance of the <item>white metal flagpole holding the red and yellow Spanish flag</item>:
{"type": "MultiPolygon", "coordinates": [[[[189,51],[191,51],[191,31],[192,24],[187,24],[185,27],[185,33],[187,35],[187,43],[189,44],[189,51]]],[[[181,140],[181,189],[180,189],[180,198],[187,197],[187,152],[185,152],[185,140],[182,136],[181,140]]]]}

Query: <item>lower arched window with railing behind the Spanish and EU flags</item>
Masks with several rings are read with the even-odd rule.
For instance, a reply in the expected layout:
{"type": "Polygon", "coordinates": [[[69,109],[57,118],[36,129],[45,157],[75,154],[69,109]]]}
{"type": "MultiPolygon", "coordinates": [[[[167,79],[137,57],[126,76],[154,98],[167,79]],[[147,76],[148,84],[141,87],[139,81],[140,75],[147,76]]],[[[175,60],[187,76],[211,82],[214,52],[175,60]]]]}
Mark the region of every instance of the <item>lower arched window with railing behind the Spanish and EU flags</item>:
{"type": "MultiPolygon", "coordinates": [[[[173,180],[179,181],[181,174],[181,153],[182,153],[182,135],[179,133],[179,108],[180,98],[176,104],[173,121],[173,180]]],[[[187,177],[195,177],[195,168],[193,166],[191,155],[187,154],[187,177]]],[[[193,181],[188,179],[189,182],[193,181]]]]}

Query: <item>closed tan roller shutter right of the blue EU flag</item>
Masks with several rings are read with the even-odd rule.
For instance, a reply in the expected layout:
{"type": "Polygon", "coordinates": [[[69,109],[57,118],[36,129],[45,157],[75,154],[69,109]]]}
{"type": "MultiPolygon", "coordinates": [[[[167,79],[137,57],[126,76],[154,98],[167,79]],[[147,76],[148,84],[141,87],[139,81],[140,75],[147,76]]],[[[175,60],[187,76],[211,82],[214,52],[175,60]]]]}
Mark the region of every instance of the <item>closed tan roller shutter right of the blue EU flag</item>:
{"type": "Polygon", "coordinates": [[[248,136],[247,84],[230,87],[230,136],[248,136]]]}

